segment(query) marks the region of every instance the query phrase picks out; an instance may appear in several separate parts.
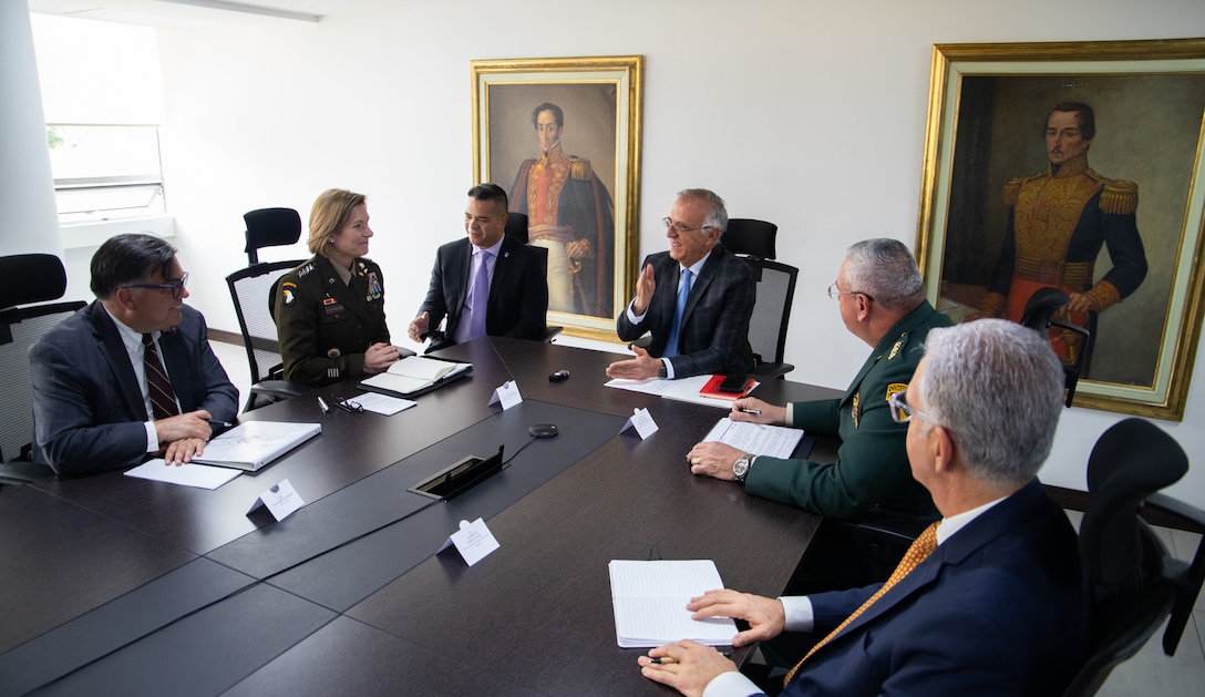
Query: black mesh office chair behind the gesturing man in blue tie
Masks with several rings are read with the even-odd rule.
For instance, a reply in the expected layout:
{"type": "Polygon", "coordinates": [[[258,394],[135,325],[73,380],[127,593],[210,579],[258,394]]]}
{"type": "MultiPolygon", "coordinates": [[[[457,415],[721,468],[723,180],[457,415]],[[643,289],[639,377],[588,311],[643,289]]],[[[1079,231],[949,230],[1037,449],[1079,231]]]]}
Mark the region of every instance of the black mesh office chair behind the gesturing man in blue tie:
{"type": "Polygon", "coordinates": [[[757,300],[750,316],[750,346],[756,367],[750,376],[783,377],[795,369],[783,362],[787,326],[795,298],[799,269],[772,260],[778,226],[751,218],[730,218],[721,239],[724,247],[745,259],[757,274],[757,300]]]}

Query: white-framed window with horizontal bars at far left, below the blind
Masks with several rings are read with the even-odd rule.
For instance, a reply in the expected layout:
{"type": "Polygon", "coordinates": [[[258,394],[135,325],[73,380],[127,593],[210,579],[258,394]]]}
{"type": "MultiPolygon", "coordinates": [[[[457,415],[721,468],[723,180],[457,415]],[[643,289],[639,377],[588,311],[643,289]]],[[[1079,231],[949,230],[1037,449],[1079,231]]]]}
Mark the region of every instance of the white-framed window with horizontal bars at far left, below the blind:
{"type": "Polygon", "coordinates": [[[59,221],[165,212],[154,125],[47,124],[59,221]]]}

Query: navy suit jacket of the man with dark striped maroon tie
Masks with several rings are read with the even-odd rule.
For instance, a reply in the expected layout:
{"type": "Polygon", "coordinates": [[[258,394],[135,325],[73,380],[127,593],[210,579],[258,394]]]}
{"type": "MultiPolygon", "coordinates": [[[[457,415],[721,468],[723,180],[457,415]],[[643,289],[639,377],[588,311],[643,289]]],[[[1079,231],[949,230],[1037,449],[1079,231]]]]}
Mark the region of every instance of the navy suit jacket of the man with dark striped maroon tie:
{"type": "MultiPolygon", "coordinates": [[[[210,348],[205,317],[188,305],[181,312],[180,327],[159,335],[180,405],[234,421],[239,390],[210,348]]],[[[142,462],[149,417],[117,326],[99,301],[30,346],[29,361],[36,458],[63,475],[142,462]]]]}

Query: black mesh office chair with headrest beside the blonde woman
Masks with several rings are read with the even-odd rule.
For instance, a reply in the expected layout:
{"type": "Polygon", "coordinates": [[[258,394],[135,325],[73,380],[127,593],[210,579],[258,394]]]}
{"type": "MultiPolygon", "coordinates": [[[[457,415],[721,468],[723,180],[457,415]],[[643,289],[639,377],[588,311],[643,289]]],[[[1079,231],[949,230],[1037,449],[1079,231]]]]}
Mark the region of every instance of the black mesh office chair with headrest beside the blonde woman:
{"type": "Polygon", "coordinates": [[[259,260],[259,250],[292,245],[301,238],[301,216],[293,209],[260,209],[243,216],[247,223],[246,269],[227,276],[234,311],[239,316],[242,345],[251,370],[251,393],[243,411],[310,391],[307,385],[283,380],[284,363],[272,318],[276,283],[305,259],[259,260]]]}

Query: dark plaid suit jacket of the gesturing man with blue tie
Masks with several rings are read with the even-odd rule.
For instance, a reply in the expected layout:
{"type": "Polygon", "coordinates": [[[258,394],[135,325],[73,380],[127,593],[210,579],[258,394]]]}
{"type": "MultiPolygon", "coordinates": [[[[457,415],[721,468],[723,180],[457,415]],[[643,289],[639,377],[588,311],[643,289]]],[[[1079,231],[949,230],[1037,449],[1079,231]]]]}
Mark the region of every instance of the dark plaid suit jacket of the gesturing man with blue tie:
{"type": "MultiPolygon", "coordinates": [[[[653,265],[657,288],[645,310],[645,318],[633,324],[624,308],[616,320],[616,332],[623,341],[635,341],[645,332],[652,332],[648,353],[660,358],[674,327],[681,266],[669,252],[649,254],[641,269],[648,264],[653,265]]],[[[678,355],[669,359],[674,365],[674,377],[752,370],[753,350],[748,333],[756,298],[753,269],[723,245],[712,247],[711,257],[699,270],[699,277],[687,297],[678,330],[678,355]]]]}

